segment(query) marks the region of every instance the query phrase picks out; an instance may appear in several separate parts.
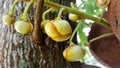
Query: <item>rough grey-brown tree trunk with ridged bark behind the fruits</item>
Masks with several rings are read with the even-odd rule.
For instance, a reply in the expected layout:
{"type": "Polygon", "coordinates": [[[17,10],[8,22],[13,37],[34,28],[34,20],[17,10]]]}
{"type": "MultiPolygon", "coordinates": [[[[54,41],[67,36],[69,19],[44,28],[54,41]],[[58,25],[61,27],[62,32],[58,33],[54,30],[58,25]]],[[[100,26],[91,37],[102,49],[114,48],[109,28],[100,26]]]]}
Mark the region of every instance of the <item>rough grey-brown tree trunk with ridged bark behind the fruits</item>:
{"type": "MultiPolygon", "coordinates": [[[[1,0],[0,2],[0,62],[2,68],[71,68],[66,62],[62,52],[66,42],[58,43],[45,35],[45,43],[32,41],[31,34],[21,35],[17,33],[14,26],[6,26],[1,21],[3,14],[11,8],[14,0],[1,0]]],[[[57,3],[69,5],[73,0],[54,0],[57,3]]],[[[16,7],[16,18],[23,12],[26,3],[19,3],[16,7]]],[[[34,20],[34,8],[29,12],[31,21],[34,20]]],[[[54,19],[57,13],[49,15],[54,19]]],[[[65,13],[66,15],[66,13],[65,13]]]]}

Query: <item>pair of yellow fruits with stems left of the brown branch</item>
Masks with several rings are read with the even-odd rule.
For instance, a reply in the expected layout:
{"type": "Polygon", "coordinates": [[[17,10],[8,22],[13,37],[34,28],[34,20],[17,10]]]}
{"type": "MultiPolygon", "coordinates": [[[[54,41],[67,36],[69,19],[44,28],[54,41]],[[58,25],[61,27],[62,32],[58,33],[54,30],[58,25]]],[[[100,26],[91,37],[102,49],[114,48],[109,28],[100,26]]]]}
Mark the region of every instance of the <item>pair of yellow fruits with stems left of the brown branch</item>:
{"type": "Polygon", "coordinates": [[[28,9],[31,6],[31,4],[35,3],[35,0],[15,0],[11,10],[8,12],[8,14],[3,15],[2,16],[2,21],[6,24],[6,25],[14,25],[14,28],[17,32],[21,33],[21,34],[28,34],[30,32],[32,32],[33,30],[33,25],[30,22],[30,20],[28,19],[28,9]],[[25,2],[29,2],[29,4],[26,6],[24,12],[21,14],[20,16],[20,20],[16,21],[15,20],[15,16],[14,16],[14,8],[16,6],[16,4],[19,1],[25,1],[25,2]]]}

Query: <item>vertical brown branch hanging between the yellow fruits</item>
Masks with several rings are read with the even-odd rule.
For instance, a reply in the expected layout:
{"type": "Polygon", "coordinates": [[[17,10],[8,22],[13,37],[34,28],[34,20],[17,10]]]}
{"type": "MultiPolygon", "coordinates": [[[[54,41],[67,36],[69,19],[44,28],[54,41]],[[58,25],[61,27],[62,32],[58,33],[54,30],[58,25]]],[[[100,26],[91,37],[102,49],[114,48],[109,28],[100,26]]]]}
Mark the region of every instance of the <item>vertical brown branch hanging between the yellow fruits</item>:
{"type": "Polygon", "coordinates": [[[34,30],[32,34],[33,41],[42,42],[42,30],[40,29],[40,24],[42,22],[42,9],[43,9],[44,0],[37,0],[37,8],[36,8],[36,17],[34,23],[34,30]]]}

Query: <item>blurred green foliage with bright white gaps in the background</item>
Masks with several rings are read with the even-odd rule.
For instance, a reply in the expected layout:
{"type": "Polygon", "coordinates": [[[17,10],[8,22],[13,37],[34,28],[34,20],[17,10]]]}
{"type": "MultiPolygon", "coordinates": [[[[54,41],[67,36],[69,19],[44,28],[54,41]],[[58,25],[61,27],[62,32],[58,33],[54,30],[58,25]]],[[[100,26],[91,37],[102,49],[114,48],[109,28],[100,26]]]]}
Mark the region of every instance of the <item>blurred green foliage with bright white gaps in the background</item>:
{"type": "MultiPolygon", "coordinates": [[[[78,5],[78,8],[79,10],[96,17],[101,17],[105,10],[97,7],[95,0],[81,0],[80,4],[78,5]]],[[[91,65],[101,66],[101,64],[99,64],[91,55],[89,48],[85,46],[85,44],[88,42],[86,33],[89,32],[89,30],[87,30],[86,32],[84,31],[84,29],[86,28],[90,29],[94,22],[88,20],[86,21],[85,19],[77,22],[78,24],[81,23],[77,30],[78,40],[79,40],[78,45],[86,50],[86,56],[81,60],[81,62],[85,62],[91,65]]]]}

